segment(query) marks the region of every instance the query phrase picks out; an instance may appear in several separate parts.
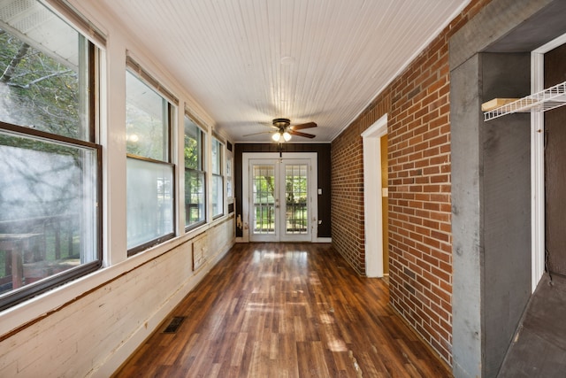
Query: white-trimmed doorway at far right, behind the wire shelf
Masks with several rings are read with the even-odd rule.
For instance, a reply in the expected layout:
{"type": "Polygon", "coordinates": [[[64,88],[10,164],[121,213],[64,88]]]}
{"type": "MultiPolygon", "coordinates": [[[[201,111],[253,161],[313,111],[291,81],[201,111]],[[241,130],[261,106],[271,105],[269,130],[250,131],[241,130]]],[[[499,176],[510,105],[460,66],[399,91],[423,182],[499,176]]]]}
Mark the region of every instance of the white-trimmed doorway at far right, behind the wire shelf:
{"type": "MultiPolygon", "coordinates": [[[[534,92],[566,80],[566,35],[561,35],[533,50],[532,89],[534,92]]],[[[563,107],[550,112],[532,112],[532,291],[546,269],[565,272],[566,241],[562,233],[562,204],[566,184],[562,151],[566,146],[563,107]]]]}

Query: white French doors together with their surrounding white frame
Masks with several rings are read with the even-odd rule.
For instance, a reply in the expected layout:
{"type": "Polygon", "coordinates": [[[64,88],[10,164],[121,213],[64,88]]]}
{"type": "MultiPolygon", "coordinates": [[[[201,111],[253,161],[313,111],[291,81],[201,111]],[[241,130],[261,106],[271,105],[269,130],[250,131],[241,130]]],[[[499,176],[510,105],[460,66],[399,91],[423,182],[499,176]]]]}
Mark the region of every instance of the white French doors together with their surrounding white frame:
{"type": "Polygon", "coordinates": [[[317,154],[242,155],[244,242],[317,238],[317,154]]]}

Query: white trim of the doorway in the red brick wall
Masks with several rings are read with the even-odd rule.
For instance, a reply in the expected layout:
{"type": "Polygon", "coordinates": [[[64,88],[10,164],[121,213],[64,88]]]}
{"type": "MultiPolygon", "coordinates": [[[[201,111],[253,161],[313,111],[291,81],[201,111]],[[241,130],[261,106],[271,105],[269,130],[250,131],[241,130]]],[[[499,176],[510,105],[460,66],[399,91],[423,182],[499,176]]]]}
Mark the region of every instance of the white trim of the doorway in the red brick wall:
{"type": "Polygon", "coordinates": [[[365,274],[383,277],[383,209],[381,198],[381,136],[387,134],[387,114],[362,133],[365,274]]]}

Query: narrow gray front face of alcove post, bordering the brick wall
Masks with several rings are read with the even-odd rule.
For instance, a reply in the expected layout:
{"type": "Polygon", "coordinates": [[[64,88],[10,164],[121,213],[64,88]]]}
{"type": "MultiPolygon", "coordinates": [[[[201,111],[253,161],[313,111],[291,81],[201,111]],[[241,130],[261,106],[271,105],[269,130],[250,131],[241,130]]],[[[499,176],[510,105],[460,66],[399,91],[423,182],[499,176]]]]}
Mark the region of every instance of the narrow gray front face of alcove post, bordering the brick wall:
{"type": "Polygon", "coordinates": [[[482,369],[479,58],[450,73],[452,161],[452,360],[456,377],[478,377],[482,369]]]}

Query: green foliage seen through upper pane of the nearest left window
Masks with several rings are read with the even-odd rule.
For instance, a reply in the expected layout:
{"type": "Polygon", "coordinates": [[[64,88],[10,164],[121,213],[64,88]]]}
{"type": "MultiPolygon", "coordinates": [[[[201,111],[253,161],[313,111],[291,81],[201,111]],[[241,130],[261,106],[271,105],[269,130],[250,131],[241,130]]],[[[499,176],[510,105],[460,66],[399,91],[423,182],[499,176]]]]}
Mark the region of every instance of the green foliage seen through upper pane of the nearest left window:
{"type": "Polygon", "coordinates": [[[0,120],[85,139],[78,68],[65,63],[0,29],[0,120]]]}

